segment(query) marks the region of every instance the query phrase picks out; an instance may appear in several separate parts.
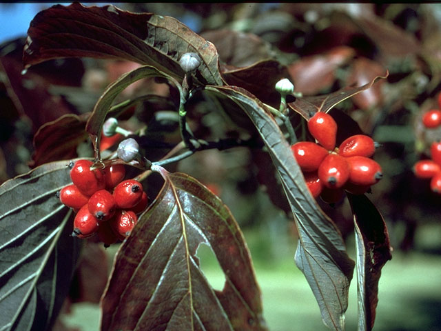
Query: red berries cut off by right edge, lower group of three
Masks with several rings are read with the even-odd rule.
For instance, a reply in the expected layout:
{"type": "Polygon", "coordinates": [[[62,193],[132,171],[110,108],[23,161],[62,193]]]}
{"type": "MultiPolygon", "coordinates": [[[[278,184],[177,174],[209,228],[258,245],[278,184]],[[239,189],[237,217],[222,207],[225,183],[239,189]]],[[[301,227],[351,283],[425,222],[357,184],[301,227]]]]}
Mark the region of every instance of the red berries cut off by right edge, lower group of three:
{"type": "Polygon", "coordinates": [[[420,160],[413,165],[416,177],[431,179],[430,188],[433,192],[441,194],[441,141],[434,141],[430,148],[431,159],[420,160]]]}

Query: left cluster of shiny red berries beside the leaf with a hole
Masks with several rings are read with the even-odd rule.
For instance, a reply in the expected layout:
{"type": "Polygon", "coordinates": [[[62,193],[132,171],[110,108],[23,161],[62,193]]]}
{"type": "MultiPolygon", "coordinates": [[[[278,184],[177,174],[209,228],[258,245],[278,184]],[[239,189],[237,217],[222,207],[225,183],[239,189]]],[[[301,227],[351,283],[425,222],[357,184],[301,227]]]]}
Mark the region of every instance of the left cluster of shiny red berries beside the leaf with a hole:
{"type": "Polygon", "coordinates": [[[72,184],[61,189],[59,198],[76,212],[72,236],[83,239],[97,234],[108,246],[130,234],[148,198],[139,181],[123,180],[124,165],[91,170],[92,165],[89,160],[71,163],[72,184]]]}

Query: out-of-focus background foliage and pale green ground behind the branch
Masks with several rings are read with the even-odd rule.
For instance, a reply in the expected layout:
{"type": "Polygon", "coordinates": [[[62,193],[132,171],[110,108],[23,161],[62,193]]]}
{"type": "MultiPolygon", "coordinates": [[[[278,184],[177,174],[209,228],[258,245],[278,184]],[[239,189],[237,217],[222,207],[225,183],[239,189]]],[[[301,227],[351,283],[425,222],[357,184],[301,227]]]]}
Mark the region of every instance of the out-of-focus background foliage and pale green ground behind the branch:
{"type": "MultiPolygon", "coordinates": [[[[115,5],[133,12],[176,17],[216,45],[225,70],[274,59],[285,66],[296,92],[303,95],[327,94],[351,84],[361,86],[388,70],[387,79],[336,106],[382,145],[375,159],[382,165],[384,177],[373,187],[369,199],[387,222],[394,252],[380,279],[375,330],[441,330],[441,196],[433,194],[429,183],[416,179],[412,172],[416,161],[429,157],[430,143],[441,139],[440,130],[424,130],[421,123],[421,114],[437,107],[441,92],[441,4],[115,5]]],[[[0,21],[14,27],[12,33],[4,30],[0,34],[1,182],[42,161],[43,147],[34,139],[41,126],[63,114],[90,112],[107,83],[136,67],[122,61],[61,59],[41,63],[21,76],[25,30],[34,14],[48,6],[50,3],[33,7],[0,4],[0,21]]],[[[173,95],[164,84],[147,80],[127,88],[123,97],[134,97],[141,91],[164,98],[128,111],[121,118],[121,126],[136,130],[142,122],[148,123],[149,137],[176,143],[180,138],[176,121],[170,116],[173,95]]],[[[189,108],[189,124],[198,137],[247,136],[248,132],[239,130],[225,114],[213,112],[209,98],[201,97],[189,108]]],[[[293,121],[301,132],[301,123],[296,118],[293,121]]],[[[148,155],[155,159],[163,152],[154,148],[148,155]]],[[[91,155],[90,142],[84,137],[65,158],[91,155]]],[[[276,181],[269,166],[259,150],[233,148],[198,152],[174,170],[191,174],[211,188],[243,228],[263,290],[269,328],[324,330],[313,294],[294,265],[296,229],[286,212],[285,198],[274,185],[267,185],[276,181]]],[[[347,201],[320,205],[336,221],[354,257],[347,201]]],[[[96,303],[115,250],[103,252],[95,243],[88,244],[72,285],[70,301],[74,304],[66,303],[66,314],[55,330],[97,330],[96,303]],[[107,262],[96,265],[97,259],[107,262]],[[95,277],[96,282],[86,281],[98,269],[101,277],[95,277]]],[[[221,288],[223,276],[216,272],[216,259],[205,250],[198,253],[209,280],[221,288]]],[[[355,329],[353,283],[347,330],[355,329]]]]}

